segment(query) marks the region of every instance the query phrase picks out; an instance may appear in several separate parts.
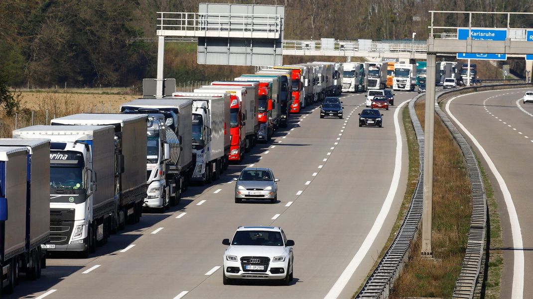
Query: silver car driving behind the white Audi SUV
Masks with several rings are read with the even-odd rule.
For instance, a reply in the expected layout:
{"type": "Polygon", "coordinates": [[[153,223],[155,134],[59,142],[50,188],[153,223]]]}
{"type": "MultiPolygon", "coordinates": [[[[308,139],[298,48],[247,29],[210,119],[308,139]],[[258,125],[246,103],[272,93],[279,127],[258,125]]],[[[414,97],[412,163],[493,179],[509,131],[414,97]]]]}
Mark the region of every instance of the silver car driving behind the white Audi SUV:
{"type": "Polygon", "coordinates": [[[240,203],[243,199],[270,200],[276,203],[278,200],[279,181],[274,178],[270,168],[245,168],[239,178],[233,178],[235,184],[235,202],[240,203]]]}

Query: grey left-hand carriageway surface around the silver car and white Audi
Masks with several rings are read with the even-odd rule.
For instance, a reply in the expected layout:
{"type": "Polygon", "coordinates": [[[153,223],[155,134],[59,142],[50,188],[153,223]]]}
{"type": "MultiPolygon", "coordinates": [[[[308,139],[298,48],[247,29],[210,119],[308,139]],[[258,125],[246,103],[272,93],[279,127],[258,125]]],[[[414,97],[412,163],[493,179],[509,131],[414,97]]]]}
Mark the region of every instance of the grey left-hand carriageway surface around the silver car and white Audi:
{"type": "Polygon", "coordinates": [[[190,187],[165,213],[143,214],[90,258],[48,259],[43,277],[22,279],[10,297],[350,298],[382,250],[405,193],[401,113],[397,129],[393,119],[416,94],[395,93],[383,128],[358,127],[366,94],[342,98],[344,119],[320,119],[317,105],[304,108],[216,184],[190,187]],[[231,180],[252,165],[270,167],[280,179],[276,204],[234,202],[231,180]],[[292,284],[222,284],[221,242],[240,225],[280,226],[295,241],[292,284]]]}

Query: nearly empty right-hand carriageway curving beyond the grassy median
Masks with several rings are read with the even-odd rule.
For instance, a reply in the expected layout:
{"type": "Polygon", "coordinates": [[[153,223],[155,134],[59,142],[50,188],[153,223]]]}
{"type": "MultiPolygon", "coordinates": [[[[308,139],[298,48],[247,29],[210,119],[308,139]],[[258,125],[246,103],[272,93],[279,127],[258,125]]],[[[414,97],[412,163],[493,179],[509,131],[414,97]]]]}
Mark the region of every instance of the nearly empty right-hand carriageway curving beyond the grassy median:
{"type": "Polygon", "coordinates": [[[503,229],[501,298],[533,298],[533,104],[527,89],[478,92],[452,100],[448,115],[489,174],[503,229]]]}

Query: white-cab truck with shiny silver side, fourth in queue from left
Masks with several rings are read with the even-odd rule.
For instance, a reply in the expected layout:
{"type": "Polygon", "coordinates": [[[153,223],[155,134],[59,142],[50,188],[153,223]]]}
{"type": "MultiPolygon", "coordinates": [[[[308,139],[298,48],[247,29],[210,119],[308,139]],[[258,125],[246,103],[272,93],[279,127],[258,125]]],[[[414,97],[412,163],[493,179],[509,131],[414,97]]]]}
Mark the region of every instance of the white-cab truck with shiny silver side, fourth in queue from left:
{"type": "Polygon", "coordinates": [[[192,175],[192,100],[136,99],[120,105],[120,111],[148,114],[144,206],[175,206],[192,175]]]}

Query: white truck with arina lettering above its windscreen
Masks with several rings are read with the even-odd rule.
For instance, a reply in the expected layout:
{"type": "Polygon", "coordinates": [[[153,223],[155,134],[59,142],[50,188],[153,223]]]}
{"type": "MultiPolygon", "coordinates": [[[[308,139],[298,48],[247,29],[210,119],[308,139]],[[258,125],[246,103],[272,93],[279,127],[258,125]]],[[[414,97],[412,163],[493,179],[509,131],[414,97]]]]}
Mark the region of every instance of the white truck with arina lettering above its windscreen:
{"type": "MultiPolygon", "coordinates": [[[[116,218],[113,126],[29,126],[13,138],[47,138],[50,145],[50,242],[48,251],[96,250],[116,218]],[[96,181],[98,178],[98,182],[96,181]]],[[[33,188],[32,188],[33,189],[33,188]]]]}

